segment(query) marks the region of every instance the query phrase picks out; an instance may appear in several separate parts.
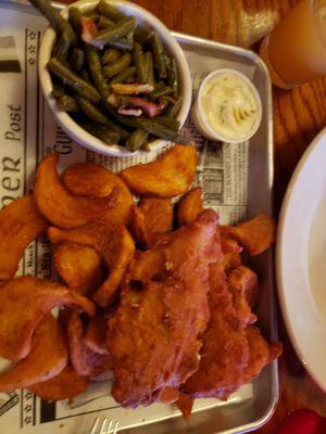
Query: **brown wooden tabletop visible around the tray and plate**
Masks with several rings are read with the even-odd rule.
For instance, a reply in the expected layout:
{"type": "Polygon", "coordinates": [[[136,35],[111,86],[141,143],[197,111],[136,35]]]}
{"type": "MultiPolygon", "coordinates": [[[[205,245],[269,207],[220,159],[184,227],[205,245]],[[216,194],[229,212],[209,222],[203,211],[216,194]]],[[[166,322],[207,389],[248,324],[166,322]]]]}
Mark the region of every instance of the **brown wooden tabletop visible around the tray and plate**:
{"type": "MultiPolygon", "coordinates": [[[[297,3],[288,0],[136,0],[173,30],[241,47],[256,47],[278,20],[297,3]]],[[[313,137],[326,125],[326,78],[292,91],[274,89],[276,207],[289,178],[313,137]]],[[[280,315],[279,315],[280,317],[280,315]]],[[[280,399],[260,434],[274,434],[296,408],[326,416],[326,394],[305,373],[279,320],[285,344],[279,361],[280,399]]],[[[293,433],[294,434],[294,433],[293,433]]]]}

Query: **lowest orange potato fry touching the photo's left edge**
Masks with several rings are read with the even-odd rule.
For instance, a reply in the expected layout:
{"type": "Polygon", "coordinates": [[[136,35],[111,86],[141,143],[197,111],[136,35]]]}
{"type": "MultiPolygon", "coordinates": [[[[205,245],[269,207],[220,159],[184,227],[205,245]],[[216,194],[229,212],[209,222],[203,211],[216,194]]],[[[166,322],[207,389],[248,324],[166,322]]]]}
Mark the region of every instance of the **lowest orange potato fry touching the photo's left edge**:
{"type": "Polygon", "coordinates": [[[0,391],[10,392],[49,380],[64,369],[67,360],[66,337],[58,321],[48,314],[35,329],[28,356],[0,375],[0,391]]]}

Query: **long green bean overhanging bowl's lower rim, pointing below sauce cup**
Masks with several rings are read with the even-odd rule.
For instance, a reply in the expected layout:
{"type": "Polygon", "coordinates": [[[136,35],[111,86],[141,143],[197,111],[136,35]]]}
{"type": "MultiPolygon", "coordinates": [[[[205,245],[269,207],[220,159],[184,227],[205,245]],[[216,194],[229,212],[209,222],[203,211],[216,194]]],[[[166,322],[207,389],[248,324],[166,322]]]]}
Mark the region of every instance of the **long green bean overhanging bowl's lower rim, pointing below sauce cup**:
{"type": "Polygon", "coordinates": [[[171,128],[165,127],[152,119],[147,119],[145,117],[134,117],[133,119],[128,116],[118,115],[115,110],[109,104],[105,105],[110,114],[120,124],[127,127],[142,128],[152,136],[159,137],[160,139],[170,140],[175,143],[190,144],[190,140],[184,137],[180,132],[177,132],[171,128]]]}

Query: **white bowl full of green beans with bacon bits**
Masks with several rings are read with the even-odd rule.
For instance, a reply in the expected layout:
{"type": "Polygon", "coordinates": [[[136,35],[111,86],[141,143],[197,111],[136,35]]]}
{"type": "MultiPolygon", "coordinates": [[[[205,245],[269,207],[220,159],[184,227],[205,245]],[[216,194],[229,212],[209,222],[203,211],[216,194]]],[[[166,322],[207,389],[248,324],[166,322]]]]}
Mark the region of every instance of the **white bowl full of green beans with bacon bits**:
{"type": "Polygon", "coordinates": [[[48,18],[39,76],[60,126],[83,146],[113,156],[158,150],[180,132],[191,104],[185,54],[145,9],[121,0],[80,0],[48,18]]]}

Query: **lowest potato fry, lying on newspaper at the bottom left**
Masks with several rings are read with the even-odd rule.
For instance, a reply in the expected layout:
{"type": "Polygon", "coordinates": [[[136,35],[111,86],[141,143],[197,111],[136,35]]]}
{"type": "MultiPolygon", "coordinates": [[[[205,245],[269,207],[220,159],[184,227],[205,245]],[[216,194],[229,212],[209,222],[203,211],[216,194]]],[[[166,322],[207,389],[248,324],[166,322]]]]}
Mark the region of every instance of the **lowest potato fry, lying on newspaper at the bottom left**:
{"type": "Polygon", "coordinates": [[[78,375],[74,368],[67,365],[57,376],[33,384],[28,391],[43,400],[62,400],[85,392],[88,383],[88,376],[78,375]]]}

